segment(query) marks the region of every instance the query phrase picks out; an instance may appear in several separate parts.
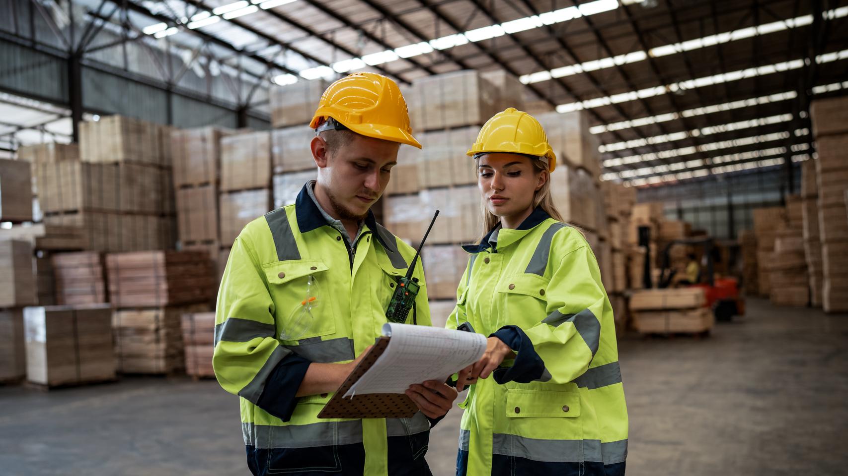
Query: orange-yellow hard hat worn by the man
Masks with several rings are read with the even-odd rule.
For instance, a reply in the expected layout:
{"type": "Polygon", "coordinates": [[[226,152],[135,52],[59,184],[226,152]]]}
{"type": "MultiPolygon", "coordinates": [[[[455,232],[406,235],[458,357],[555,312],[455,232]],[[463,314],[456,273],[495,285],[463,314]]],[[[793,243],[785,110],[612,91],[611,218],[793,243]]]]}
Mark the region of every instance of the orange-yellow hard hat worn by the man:
{"type": "Polygon", "coordinates": [[[361,136],[421,148],[412,136],[410,114],[400,88],[377,73],[354,73],[327,87],[310,127],[318,130],[328,122],[331,129],[349,129],[361,136]]]}

